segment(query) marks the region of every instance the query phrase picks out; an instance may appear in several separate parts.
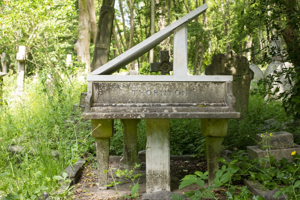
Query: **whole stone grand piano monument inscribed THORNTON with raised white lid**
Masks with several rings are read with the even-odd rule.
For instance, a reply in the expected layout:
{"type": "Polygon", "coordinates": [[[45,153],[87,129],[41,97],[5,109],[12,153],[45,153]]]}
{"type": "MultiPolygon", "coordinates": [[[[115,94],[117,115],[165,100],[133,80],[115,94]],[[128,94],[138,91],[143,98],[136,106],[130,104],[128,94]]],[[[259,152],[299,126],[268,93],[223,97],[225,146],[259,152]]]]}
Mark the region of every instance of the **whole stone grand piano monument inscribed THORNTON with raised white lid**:
{"type": "Polygon", "coordinates": [[[87,75],[88,94],[83,114],[91,119],[92,137],[96,138],[99,189],[107,189],[107,173],[103,171],[108,169],[114,119],[122,119],[124,134],[129,138],[124,140],[128,149],[124,149],[123,166],[139,162],[137,152],[128,150],[136,149],[137,124],[146,119],[147,193],[170,191],[170,119],[201,119],[202,133],[206,136],[208,178],[213,180],[214,170],[219,167],[221,137],[227,134],[227,120],[239,118],[240,113],[235,112],[232,76],[187,75],[187,23],[207,8],[203,4],[87,75]],[[110,75],[171,34],[174,34],[173,75],[110,75]]]}

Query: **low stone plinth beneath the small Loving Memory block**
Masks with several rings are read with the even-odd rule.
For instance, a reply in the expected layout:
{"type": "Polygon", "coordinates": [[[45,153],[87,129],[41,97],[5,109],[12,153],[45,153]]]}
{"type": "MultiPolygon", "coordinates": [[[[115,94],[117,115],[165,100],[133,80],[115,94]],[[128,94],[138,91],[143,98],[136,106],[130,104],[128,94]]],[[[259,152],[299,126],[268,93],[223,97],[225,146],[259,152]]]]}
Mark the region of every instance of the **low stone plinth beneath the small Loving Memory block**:
{"type": "Polygon", "coordinates": [[[279,161],[282,158],[289,159],[289,162],[293,160],[291,153],[296,151],[297,153],[300,152],[300,145],[295,145],[293,148],[287,149],[272,149],[269,151],[261,150],[257,146],[247,146],[247,153],[249,154],[249,159],[254,158],[266,158],[266,156],[274,156],[274,158],[279,161]]]}

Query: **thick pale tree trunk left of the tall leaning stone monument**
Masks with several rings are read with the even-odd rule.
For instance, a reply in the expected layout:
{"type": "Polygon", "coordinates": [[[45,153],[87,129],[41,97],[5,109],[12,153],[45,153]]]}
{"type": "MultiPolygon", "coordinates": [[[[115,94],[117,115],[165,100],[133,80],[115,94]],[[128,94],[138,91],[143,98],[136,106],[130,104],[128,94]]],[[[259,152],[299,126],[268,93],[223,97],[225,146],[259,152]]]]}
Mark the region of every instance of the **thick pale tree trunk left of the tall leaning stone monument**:
{"type": "Polygon", "coordinates": [[[91,25],[88,14],[87,0],[78,0],[79,17],[78,17],[78,40],[74,46],[77,52],[78,61],[85,62],[85,73],[90,71],[91,57],[90,57],[90,38],[91,25]]]}

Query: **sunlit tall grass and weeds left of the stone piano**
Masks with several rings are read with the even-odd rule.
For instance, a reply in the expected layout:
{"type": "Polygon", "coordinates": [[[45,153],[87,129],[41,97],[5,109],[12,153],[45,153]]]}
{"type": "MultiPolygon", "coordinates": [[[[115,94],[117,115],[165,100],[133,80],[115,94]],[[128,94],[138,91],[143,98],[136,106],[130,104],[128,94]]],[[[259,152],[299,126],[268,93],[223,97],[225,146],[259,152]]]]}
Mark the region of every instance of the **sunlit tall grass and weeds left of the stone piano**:
{"type": "Polygon", "coordinates": [[[52,195],[50,199],[65,198],[68,191],[55,194],[61,184],[67,183],[66,174],[61,177],[61,172],[80,159],[82,152],[92,149],[90,131],[82,119],[65,127],[73,104],[86,90],[86,85],[75,81],[73,84],[76,87],[63,81],[46,85],[40,74],[35,80],[25,78],[20,97],[14,92],[16,75],[10,71],[4,77],[0,105],[0,199],[35,200],[45,191],[52,195]],[[9,147],[21,151],[12,153],[9,147]]]}

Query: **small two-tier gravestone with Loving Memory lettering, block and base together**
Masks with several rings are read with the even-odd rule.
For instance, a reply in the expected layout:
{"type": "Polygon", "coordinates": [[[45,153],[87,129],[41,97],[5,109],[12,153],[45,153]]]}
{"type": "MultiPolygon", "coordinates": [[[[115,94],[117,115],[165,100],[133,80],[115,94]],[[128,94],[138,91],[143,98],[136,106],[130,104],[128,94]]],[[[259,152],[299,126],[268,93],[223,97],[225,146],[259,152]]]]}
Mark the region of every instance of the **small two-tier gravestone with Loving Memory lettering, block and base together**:
{"type": "MultiPolygon", "coordinates": [[[[257,145],[247,146],[247,153],[249,154],[249,159],[254,158],[268,158],[274,156],[277,161],[282,158],[287,158],[289,162],[293,160],[292,152],[300,152],[300,145],[294,144],[293,134],[286,131],[273,132],[273,133],[262,133],[256,134],[257,145]],[[271,134],[271,136],[270,136],[271,134]],[[265,139],[265,137],[270,137],[265,139]],[[263,149],[263,146],[268,147],[268,151],[263,149]]],[[[268,163],[264,161],[265,163],[268,163]]]]}

